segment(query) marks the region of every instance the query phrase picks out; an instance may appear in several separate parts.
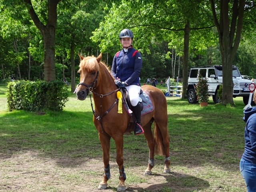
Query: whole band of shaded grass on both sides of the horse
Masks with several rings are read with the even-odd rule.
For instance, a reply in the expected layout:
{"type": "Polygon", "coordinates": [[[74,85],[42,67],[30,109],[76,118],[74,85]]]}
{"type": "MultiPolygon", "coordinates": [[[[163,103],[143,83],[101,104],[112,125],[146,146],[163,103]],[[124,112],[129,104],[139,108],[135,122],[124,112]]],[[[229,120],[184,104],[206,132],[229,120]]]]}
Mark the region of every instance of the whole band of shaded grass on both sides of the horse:
{"type": "MultiPolygon", "coordinates": [[[[175,106],[181,102],[173,100],[168,104],[175,106]]],[[[1,118],[0,158],[35,151],[38,156],[57,159],[58,166],[80,165],[86,158],[102,161],[102,149],[98,131],[92,122],[92,112],[49,112],[40,116],[15,111],[1,118]]],[[[169,114],[168,120],[172,166],[214,164],[224,170],[238,169],[244,150],[245,126],[240,106],[230,110],[215,105],[199,110],[188,108],[182,113],[177,111],[169,114]]],[[[112,162],[115,155],[112,141],[112,162]]],[[[144,136],[124,137],[124,159],[128,166],[140,164],[141,161],[146,166],[148,146],[144,136]]]]}

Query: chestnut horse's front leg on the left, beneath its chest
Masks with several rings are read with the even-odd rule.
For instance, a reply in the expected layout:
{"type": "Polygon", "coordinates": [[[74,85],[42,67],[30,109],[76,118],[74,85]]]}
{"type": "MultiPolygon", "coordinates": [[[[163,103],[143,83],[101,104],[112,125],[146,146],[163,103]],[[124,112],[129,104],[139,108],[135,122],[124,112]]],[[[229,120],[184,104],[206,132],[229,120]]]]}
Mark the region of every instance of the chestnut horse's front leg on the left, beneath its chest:
{"type": "Polygon", "coordinates": [[[104,178],[100,182],[98,189],[106,189],[108,186],[108,180],[110,179],[110,166],[109,166],[109,150],[110,150],[110,136],[99,133],[100,144],[103,151],[104,162],[104,178]]]}

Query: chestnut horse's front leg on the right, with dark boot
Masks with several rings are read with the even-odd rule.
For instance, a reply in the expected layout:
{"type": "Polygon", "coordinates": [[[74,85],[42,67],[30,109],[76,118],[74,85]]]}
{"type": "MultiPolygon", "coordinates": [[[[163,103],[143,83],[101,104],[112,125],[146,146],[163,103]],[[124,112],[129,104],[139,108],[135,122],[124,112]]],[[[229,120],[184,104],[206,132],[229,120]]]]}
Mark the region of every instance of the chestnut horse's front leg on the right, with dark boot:
{"type": "Polygon", "coordinates": [[[117,188],[117,191],[125,191],[126,185],[124,184],[124,181],[126,180],[126,174],[124,172],[124,157],[123,157],[123,149],[124,149],[124,138],[123,136],[117,136],[116,138],[113,138],[116,143],[116,162],[119,167],[119,185],[117,188]]]}

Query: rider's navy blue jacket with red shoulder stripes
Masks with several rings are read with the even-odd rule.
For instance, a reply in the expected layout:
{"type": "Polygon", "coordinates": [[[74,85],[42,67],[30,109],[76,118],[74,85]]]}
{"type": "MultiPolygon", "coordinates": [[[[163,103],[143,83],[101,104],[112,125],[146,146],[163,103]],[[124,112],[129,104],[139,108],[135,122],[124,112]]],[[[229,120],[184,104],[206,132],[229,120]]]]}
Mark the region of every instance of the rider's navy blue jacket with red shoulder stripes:
{"type": "Polygon", "coordinates": [[[124,52],[117,52],[113,59],[111,74],[115,79],[126,82],[129,85],[140,86],[140,70],[142,68],[142,56],[133,47],[124,52]]]}

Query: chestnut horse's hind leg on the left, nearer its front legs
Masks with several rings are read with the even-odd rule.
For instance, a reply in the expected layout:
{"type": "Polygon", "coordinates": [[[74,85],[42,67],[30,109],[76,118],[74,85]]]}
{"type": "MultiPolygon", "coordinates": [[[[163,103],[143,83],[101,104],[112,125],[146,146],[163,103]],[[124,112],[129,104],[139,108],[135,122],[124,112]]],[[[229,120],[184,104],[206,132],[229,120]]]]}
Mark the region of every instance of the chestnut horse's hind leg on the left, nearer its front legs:
{"type": "Polygon", "coordinates": [[[152,174],[152,168],[154,167],[154,136],[151,130],[152,122],[149,122],[145,126],[143,126],[143,129],[145,130],[144,136],[148,142],[148,148],[149,148],[149,159],[148,159],[148,167],[146,168],[144,175],[151,175],[152,174]]]}

